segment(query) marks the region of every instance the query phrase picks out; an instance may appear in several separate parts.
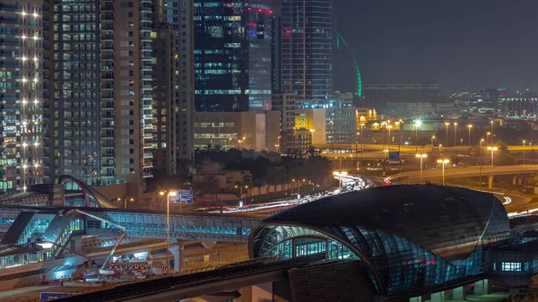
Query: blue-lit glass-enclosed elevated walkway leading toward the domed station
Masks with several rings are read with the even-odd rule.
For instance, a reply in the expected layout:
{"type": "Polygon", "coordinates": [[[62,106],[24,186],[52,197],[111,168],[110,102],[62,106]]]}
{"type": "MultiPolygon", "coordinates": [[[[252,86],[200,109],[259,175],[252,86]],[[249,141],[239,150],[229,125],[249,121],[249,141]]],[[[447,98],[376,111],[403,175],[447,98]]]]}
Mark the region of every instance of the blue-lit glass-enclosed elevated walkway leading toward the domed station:
{"type": "MultiPolygon", "coordinates": [[[[44,242],[67,246],[74,234],[118,237],[123,231],[114,224],[126,228],[127,237],[139,240],[163,240],[167,237],[167,215],[161,211],[76,208],[99,218],[95,219],[80,213],[65,216],[71,209],[73,208],[0,205],[0,223],[10,226],[5,238],[5,242],[9,244],[4,246],[4,252],[0,253],[0,269],[48,262],[60,256],[62,251],[57,246],[48,249],[36,246],[30,250],[19,248],[25,246],[28,237],[32,240],[41,237],[44,242]],[[17,220],[19,222],[16,222],[17,220]],[[34,225],[31,223],[34,220],[39,220],[42,224],[34,225]],[[25,235],[22,236],[22,233],[25,235]]],[[[239,215],[204,213],[172,214],[169,218],[169,234],[174,240],[235,243],[247,243],[250,231],[261,220],[239,215]]],[[[136,247],[136,244],[132,247],[136,247]]],[[[97,248],[95,252],[104,250],[97,248]]]]}

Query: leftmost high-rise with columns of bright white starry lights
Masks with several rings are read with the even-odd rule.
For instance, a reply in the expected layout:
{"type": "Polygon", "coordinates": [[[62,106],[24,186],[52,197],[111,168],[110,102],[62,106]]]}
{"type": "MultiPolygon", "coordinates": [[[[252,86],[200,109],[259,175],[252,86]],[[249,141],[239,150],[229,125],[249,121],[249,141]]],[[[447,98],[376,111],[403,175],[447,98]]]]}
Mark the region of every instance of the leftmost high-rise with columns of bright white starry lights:
{"type": "Polygon", "coordinates": [[[43,182],[42,1],[0,1],[0,194],[43,182]]]}

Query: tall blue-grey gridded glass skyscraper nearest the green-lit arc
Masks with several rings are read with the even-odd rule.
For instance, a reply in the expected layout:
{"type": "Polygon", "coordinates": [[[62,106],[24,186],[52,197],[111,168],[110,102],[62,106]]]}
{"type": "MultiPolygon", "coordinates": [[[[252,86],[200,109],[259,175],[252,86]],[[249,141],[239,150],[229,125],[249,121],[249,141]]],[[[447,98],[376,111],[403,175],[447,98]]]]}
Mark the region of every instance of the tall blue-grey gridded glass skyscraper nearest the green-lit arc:
{"type": "Polygon", "coordinates": [[[302,107],[333,93],[333,0],[282,0],[282,91],[302,107]]]}

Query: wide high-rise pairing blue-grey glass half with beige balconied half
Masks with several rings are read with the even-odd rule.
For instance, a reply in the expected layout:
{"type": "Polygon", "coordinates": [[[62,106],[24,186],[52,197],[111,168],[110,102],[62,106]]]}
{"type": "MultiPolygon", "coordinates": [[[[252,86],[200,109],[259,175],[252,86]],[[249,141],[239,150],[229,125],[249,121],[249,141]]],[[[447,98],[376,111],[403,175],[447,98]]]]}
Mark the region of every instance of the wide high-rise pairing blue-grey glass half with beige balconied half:
{"type": "MultiPolygon", "coordinates": [[[[47,0],[48,180],[152,177],[157,0],[47,0]]],[[[160,86],[161,88],[161,86],[160,86]]]]}

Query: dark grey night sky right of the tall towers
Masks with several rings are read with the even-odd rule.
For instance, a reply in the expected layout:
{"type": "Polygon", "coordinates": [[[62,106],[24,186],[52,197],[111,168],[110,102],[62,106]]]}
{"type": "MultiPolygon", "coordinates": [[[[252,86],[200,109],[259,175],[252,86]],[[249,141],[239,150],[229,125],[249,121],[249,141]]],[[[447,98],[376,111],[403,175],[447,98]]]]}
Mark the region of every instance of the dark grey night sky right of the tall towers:
{"type": "MultiPolygon", "coordinates": [[[[441,92],[538,91],[538,0],[334,0],[365,83],[437,81],[441,92]]],[[[334,89],[354,91],[349,56],[334,89]]]]}

